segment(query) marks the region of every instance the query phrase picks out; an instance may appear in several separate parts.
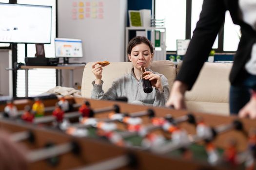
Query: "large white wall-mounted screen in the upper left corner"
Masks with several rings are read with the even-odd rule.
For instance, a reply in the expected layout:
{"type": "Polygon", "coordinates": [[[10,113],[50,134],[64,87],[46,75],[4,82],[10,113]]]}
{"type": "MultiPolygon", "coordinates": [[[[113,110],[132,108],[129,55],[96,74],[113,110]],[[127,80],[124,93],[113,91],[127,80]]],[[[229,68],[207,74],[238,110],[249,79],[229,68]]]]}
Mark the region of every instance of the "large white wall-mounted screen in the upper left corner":
{"type": "Polygon", "coordinates": [[[51,43],[52,7],[0,3],[1,43],[51,43]]]}

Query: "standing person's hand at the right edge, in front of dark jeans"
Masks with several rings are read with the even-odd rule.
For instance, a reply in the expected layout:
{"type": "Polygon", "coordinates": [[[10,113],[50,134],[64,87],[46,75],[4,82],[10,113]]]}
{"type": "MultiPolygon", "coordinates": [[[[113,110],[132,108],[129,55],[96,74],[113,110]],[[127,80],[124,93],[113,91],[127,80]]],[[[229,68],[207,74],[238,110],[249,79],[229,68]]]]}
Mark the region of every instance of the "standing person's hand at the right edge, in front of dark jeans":
{"type": "Polygon", "coordinates": [[[238,113],[240,118],[249,117],[256,119],[256,98],[251,97],[250,101],[238,113]]]}

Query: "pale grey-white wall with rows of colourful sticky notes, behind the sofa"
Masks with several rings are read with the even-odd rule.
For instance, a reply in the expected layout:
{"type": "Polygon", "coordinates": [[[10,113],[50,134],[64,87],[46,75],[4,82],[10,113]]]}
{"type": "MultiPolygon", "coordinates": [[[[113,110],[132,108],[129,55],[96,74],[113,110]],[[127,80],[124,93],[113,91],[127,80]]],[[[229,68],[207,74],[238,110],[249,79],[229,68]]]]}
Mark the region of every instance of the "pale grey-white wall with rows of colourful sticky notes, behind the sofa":
{"type": "MultiPolygon", "coordinates": [[[[85,4],[85,0],[81,0],[85,4]]],[[[58,3],[58,37],[80,38],[83,58],[71,62],[124,61],[127,0],[86,0],[103,2],[103,18],[73,19],[73,0],[58,3]]],[[[85,9],[85,7],[84,7],[85,9]]],[[[84,12],[86,13],[86,12],[84,12]]],[[[68,86],[69,72],[63,70],[63,86],[68,86]]],[[[74,83],[81,84],[83,70],[74,71],[74,83]]]]}

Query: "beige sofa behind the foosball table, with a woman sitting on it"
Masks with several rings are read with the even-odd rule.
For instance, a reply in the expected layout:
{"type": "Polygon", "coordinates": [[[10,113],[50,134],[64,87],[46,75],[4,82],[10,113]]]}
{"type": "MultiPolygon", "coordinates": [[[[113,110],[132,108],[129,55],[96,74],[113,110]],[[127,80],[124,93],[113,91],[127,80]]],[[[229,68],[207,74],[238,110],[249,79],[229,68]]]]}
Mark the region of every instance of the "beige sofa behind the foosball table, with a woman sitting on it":
{"type": "MultiPolygon", "coordinates": [[[[103,69],[102,80],[104,81],[103,90],[106,91],[112,82],[131,71],[131,62],[111,62],[103,69]]],[[[176,67],[169,60],[154,61],[151,69],[165,75],[168,79],[170,88],[176,78],[181,63],[176,67]]],[[[205,63],[193,89],[186,93],[186,104],[188,110],[194,112],[214,113],[229,115],[229,81],[228,75],[232,64],[205,63]]],[[[92,81],[95,76],[92,73],[92,62],[86,64],[81,85],[82,97],[90,98],[92,91],[92,81]]]]}

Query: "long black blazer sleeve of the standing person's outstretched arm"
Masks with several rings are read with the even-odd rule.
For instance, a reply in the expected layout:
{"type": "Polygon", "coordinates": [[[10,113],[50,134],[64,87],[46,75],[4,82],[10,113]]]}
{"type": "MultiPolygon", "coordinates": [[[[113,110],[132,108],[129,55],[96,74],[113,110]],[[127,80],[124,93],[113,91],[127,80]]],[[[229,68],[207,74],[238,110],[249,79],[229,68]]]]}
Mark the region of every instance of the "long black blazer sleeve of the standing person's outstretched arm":
{"type": "Polygon", "coordinates": [[[197,76],[212,49],[218,31],[225,19],[223,0],[204,0],[202,11],[184,56],[177,79],[189,86],[194,85],[197,76]]]}

